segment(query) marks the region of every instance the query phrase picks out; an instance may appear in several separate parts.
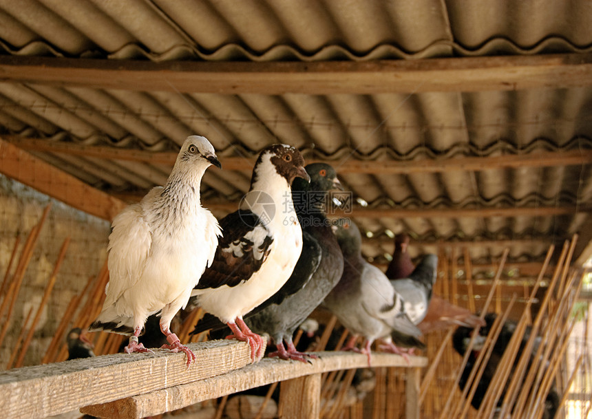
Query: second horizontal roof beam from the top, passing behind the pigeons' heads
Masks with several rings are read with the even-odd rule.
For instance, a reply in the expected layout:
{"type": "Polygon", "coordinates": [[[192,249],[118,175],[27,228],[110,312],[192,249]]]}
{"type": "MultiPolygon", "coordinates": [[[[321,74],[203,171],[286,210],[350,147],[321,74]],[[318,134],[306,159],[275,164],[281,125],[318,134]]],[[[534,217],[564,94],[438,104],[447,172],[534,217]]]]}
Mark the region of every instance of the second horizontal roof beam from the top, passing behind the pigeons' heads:
{"type": "MultiPolygon", "coordinates": [[[[4,136],[14,145],[28,151],[47,151],[107,160],[129,160],[151,164],[173,165],[177,158],[176,151],[152,152],[116,147],[88,146],[74,142],[4,136]]],[[[221,157],[224,170],[251,171],[256,156],[221,157]]],[[[398,162],[395,160],[317,160],[335,166],[339,173],[366,173],[409,175],[412,173],[450,173],[454,171],[484,171],[489,169],[516,169],[519,167],[570,166],[592,164],[592,150],[571,151],[534,151],[528,154],[495,155],[486,157],[461,157],[447,159],[424,159],[398,162]]]]}

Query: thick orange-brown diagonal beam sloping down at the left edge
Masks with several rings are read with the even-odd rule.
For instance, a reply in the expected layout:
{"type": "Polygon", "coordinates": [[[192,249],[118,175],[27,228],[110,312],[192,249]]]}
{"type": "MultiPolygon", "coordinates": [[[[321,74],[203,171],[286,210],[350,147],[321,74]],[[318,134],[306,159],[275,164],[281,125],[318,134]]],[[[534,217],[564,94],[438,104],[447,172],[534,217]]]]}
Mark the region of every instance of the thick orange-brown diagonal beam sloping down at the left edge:
{"type": "Polygon", "coordinates": [[[85,213],[109,221],[127,205],[1,138],[0,173],[85,213]]]}

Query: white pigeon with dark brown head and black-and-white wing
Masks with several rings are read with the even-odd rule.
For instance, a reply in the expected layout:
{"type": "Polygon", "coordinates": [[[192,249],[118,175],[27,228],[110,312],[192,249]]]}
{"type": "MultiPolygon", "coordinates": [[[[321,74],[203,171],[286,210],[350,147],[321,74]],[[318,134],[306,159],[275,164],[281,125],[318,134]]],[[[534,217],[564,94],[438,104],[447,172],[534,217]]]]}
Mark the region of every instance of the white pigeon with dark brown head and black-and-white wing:
{"type": "Polygon", "coordinates": [[[193,291],[204,311],[229,325],[229,337],[249,343],[253,362],[264,341],[242,316],[282,288],[302,252],[290,187],[297,177],[310,181],[295,147],[275,144],[260,153],[251,188],[239,210],[220,219],[224,237],[193,291]]]}

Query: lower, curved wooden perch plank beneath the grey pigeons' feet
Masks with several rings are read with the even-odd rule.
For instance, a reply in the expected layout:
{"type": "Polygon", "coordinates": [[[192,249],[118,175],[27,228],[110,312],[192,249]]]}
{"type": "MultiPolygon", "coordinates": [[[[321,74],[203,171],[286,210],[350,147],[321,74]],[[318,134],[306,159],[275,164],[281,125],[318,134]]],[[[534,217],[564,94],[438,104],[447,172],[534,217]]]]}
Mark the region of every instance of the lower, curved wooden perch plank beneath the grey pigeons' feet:
{"type": "MultiPolygon", "coordinates": [[[[140,419],[277,381],[339,369],[368,367],[368,357],[364,354],[349,352],[317,352],[317,354],[319,359],[311,359],[310,363],[306,364],[264,358],[257,364],[247,365],[222,376],[177,385],[103,405],[87,406],[81,411],[101,418],[140,419]]],[[[399,355],[372,354],[372,367],[425,367],[426,365],[427,358],[419,356],[410,356],[408,364],[399,355]]]]}

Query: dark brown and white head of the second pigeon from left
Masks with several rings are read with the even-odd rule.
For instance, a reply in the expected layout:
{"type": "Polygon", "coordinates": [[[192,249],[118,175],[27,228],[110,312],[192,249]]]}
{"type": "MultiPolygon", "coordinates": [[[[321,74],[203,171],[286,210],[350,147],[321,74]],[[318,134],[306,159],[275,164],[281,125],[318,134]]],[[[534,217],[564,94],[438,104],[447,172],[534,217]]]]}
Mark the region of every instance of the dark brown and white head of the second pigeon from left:
{"type": "Polygon", "coordinates": [[[255,162],[251,188],[268,175],[277,173],[291,185],[295,178],[303,178],[310,182],[310,176],[304,169],[304,158],[296,147],[287,144],[273,144],[265,147],[255,162]]]}

